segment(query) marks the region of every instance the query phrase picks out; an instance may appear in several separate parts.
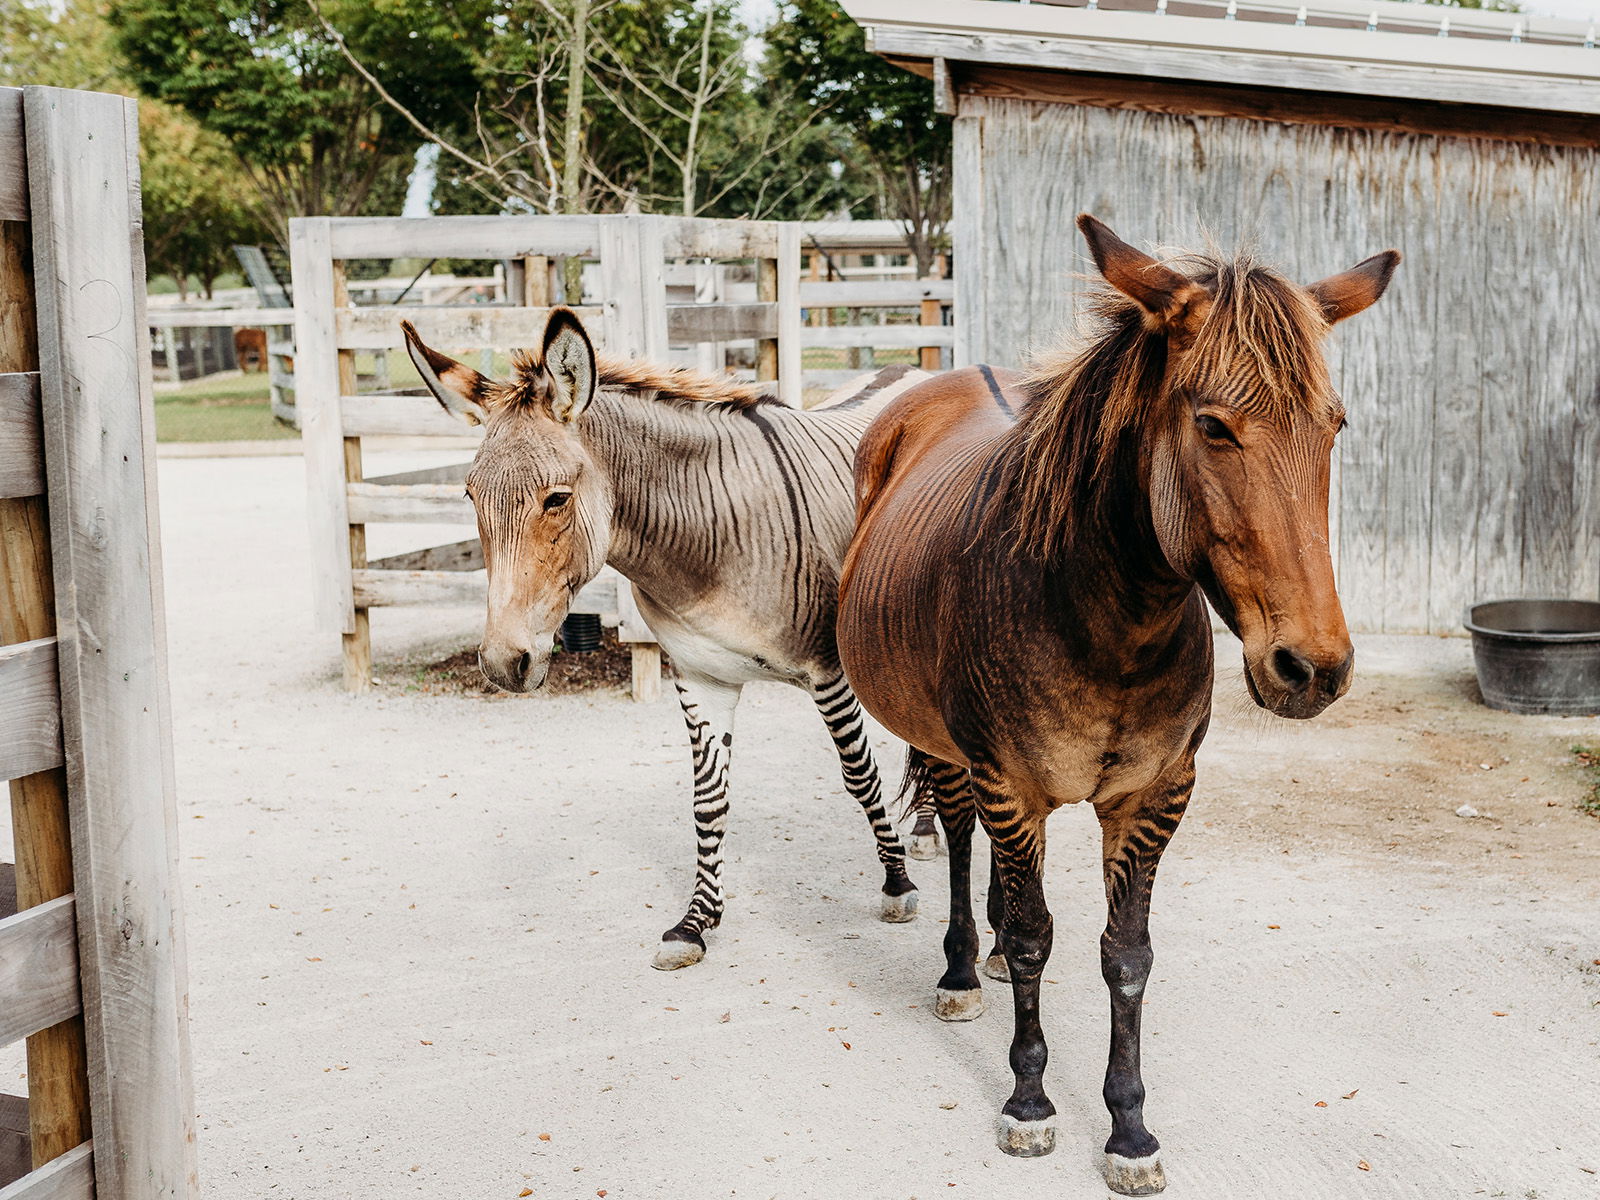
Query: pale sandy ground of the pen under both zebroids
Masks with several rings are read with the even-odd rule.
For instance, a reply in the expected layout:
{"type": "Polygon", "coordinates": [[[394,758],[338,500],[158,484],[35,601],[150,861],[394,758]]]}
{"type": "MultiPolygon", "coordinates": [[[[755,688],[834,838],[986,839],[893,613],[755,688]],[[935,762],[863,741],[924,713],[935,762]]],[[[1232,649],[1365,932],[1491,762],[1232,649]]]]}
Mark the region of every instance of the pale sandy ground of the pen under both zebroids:
{"type": "MultiPolygon", "coordinates": [[[[800,693],[747,691],[728,917],[662,974],[691,872],[670,691],[419,694],[405,664],[478,614],[386,611],[384,686],[346,696],[309,632],[299,461],[163,461],[162,504],[210,1195],[1106,1195],[1090,811],[1053,821],[1059,1149],[1011,1160],[1010,992],[933,1018],[944,862],[914,864],[918,922],[875,920],[800,693]]],[[[1358,654],[1296,725],[1219,645],[1152,918],[1168,1195],[1600,1197],[1600,821],[1568,763],[1600,726],[1477,706],[1459,640],[1358,654]]]]}

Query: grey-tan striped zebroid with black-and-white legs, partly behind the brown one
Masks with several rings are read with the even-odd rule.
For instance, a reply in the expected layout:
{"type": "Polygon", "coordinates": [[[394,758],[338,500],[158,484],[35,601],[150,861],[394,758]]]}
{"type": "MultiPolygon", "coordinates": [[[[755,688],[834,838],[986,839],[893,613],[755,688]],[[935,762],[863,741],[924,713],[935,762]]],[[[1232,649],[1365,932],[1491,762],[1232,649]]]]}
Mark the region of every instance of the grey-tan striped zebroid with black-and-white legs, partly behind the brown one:
{"type": "Polygon", "coordinates": [[[597,358],[566,309],[506,382],[429,349],[410,323],[405,334],[438,402],[486,427],[467,474],[488,566],[485,675],[538,688],[573,597],[608,562],[672,656],[694,765],[694,893],[654,965],[699,962],[722,920],[733,712],[755,680],[816,702],[877,838],[880,915],[912,920],[917,890],[838,667],[834,613],[856,443],[926,376],[888,368],[800,411],[723,376],[597,358]]]}

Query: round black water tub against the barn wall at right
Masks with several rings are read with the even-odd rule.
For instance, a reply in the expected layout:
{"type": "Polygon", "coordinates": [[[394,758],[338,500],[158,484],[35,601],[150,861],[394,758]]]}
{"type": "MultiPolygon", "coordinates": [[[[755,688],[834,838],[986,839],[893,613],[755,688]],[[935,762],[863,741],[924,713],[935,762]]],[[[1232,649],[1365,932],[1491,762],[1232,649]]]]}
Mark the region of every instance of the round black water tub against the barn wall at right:
{"type": "Polygon", "coordinates": [[[1469,608],[1466,626],[1491,709],[1600,714],[1600,603],[1494,600],[1469,608]]]}

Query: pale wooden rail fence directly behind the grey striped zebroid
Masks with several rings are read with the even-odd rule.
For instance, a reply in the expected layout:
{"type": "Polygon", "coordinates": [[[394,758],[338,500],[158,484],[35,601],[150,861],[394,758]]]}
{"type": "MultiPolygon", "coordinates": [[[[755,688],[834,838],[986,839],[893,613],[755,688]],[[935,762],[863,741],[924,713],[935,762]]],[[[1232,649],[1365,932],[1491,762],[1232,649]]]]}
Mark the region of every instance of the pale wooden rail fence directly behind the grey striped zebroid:
{"type": "MultiPolygon", "coordinates": [[[[366,478],[362,438],[400,434],[482,435],[429,395],[360,394],[355,354],[403,344],[400,318],[440,349],[538,344],[549,315],[552,258],[598,258],[600,288],[578,309],[611,354],[664,360],[670,344],[754,339],[757,378],[800,402],[800,230],[758,221],[659,216],[307,218],[290,222],[294,290],[296,410],[306,448],[317,626],[342,637],[344,685],[371,683],[370,611],[394,605],[470,603],[486,597],[477,539],[366,558],[374,522],[474,526],[461,494],[467,464],[366,478]],[[477,258],[518,264],[517,304],[357,307],[342,262],[354,258],[477,258]],[[754,261],[750,302],[670,304],[670,259],[754,261]]],[[[614,621],[634,646],[634,696],[654,699],[661,651],[632,592],[603,573],[573,605],[614,621]]]]}

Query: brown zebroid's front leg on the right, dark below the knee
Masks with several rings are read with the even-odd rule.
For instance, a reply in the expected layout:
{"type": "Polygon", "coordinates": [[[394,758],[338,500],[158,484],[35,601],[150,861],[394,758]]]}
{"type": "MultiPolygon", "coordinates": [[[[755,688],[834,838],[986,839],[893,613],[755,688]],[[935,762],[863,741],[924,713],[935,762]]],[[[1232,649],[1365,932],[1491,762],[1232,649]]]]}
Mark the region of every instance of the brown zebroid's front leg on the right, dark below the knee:
{"type": "Polygon", "coordinates": [[[1106,870],[1106,933],[1101,974],[1110,990],[1110,1058],[1106,1062],[1106,1182],[1123,1195],[1154,1195],[1166,1187],[1160,1142],[1144,1128],[1144,1080],[1139,1077],[1139,1011],[1150,978],[1150,888],[1162,851],[1171,840],[1194,765],[1176,779],[1130,797],[1099,814],[1106,870]]]}

